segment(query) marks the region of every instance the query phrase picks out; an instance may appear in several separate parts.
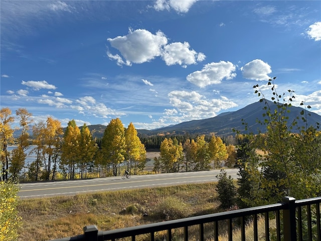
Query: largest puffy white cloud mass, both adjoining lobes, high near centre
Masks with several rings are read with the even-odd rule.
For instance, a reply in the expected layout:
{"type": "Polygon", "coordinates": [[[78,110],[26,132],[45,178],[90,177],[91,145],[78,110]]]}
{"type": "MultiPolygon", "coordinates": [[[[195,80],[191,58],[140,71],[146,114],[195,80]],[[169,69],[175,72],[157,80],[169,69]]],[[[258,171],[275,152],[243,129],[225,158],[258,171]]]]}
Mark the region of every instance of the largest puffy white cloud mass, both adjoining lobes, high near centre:
{"type": "Polygon", "coordinates": [[[186,67],[206,58],[204,53],[191,50],[188,42],[167,44],[168,39],[161,31],[152,34],[144,29],[129,30],[126,36],[108,38],[107,40],[112,47],[119,50],[124,58],[107,51],[109,59],[115,60],[119,66],[131,66],[132,63],[141,64],[161,57],[167,65],[179,64],[186,67]]]}

